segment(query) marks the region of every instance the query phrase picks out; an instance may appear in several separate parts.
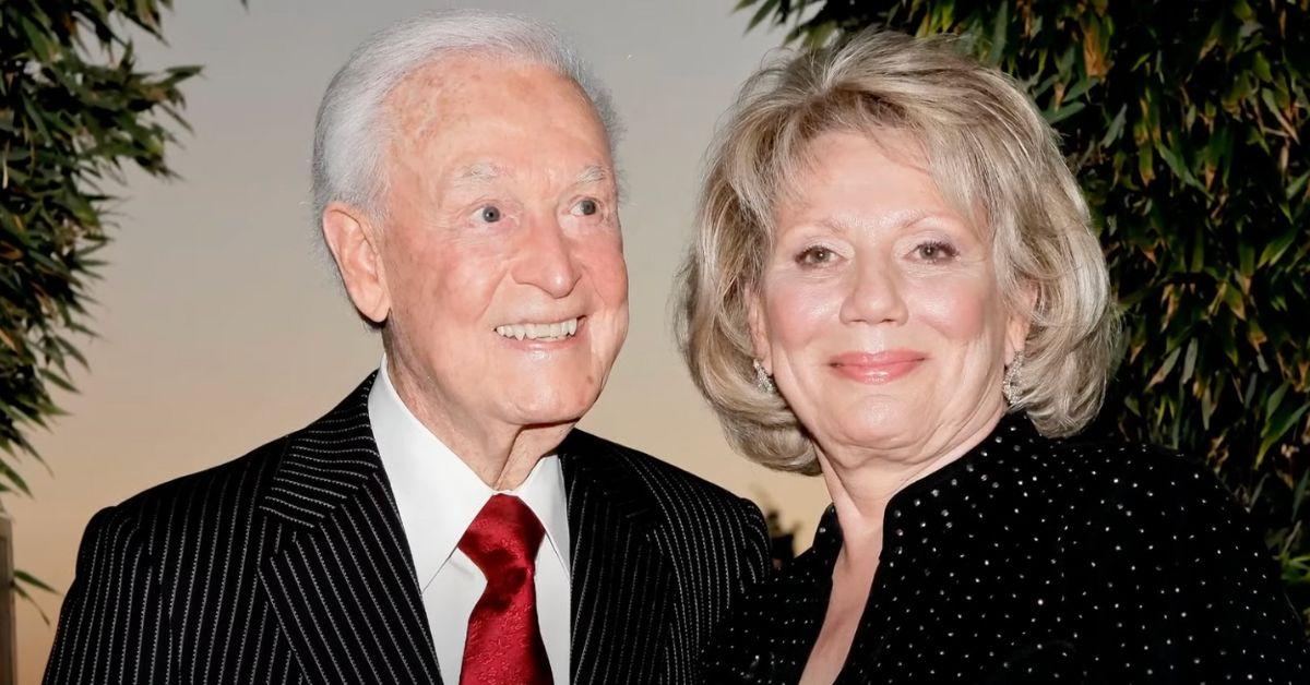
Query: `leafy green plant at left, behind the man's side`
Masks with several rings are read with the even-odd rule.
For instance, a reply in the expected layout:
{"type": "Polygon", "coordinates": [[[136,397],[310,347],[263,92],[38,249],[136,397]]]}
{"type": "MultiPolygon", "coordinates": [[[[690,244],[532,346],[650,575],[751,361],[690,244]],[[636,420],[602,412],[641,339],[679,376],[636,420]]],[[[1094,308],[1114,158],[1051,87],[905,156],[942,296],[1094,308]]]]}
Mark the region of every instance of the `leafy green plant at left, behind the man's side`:
{"type": "MultiPolygon", "coordinates": [[[[169,124],[186,127],[178,85],[198,67],[138,71],[131,35],[162,41],[170,0],[0,3],[0,494],[30,495],[24,431],[60,414],[51,389],[73,392],[90,337],[88,286],[109,241],[105,182],[135,162],[170,177],[169,124]]],[[[50,591],[30,574],[24,584],[50,591]]],[[[30,597],[29,597],[30,599],[30,597]]]]}

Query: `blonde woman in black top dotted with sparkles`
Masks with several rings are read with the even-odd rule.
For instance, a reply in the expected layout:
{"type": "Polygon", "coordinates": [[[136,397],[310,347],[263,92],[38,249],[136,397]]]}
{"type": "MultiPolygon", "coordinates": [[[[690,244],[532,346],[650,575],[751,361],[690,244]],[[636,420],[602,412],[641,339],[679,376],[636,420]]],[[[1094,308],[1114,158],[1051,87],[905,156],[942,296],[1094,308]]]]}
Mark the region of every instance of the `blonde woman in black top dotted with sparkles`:
{"type": "Polygon", "coordinates": [[[1010,79],[892,33],[762,69],[711,151],[683,278],[686,360],[735,447],[833,502],[706,681],[1310,682],[1212,474],[1078,436],[1115,304],[1010,79]]]}

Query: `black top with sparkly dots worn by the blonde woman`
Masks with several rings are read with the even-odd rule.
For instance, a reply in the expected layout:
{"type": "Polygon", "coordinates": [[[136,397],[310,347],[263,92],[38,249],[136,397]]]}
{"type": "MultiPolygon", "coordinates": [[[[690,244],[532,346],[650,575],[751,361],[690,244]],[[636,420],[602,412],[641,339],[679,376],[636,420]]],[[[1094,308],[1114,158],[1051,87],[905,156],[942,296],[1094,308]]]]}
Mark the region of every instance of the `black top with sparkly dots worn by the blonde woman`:
{"type": "MultiPolygon", "coordinates": [[[[706,682],[794,684],[819,637],[841,530],[758,587],[706,652],[706,682]]],[[[838,684],[1310,684],[1310,646],[1246,512],[1201,465],[1049,440],[1007,417],[887,506],[838,684]]]]}

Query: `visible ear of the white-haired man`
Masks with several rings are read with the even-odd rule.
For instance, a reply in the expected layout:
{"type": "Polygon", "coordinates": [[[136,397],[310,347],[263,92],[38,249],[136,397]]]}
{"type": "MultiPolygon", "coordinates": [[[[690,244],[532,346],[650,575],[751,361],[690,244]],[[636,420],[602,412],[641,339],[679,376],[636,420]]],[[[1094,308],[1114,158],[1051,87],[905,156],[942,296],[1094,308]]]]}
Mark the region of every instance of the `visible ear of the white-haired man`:
{"type": "Polygon", "coordinates": [[[322,229],[355,309],[373,324],[386,321],[392,299],[376,227],[358,208],[333,202],[324,208],[322,229]]]}

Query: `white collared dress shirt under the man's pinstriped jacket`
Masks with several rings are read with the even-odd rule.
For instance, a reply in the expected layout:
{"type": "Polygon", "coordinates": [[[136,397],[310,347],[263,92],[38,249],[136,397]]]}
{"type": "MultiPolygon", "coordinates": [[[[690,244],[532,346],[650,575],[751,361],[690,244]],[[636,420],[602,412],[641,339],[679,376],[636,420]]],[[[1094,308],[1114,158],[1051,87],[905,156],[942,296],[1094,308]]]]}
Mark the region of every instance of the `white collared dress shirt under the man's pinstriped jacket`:
{"type": "MultiPolygon", "coordinates": [[[[473,469],[432,435],[405,406],[383,359],[368,393],[368,419],[386,478],[396,494],[401,525],[414,557],[423,609],[432,629],[441,680],[460,682],[469,616],[486,588],[482,571],[458,549],[460,538],[491,495],[473,469]]],[[[537,550],[537,625],[554,682],[569,682],[569,509],[559,458],[542,457],[515,490],[541,520],[537,550]]]]}

